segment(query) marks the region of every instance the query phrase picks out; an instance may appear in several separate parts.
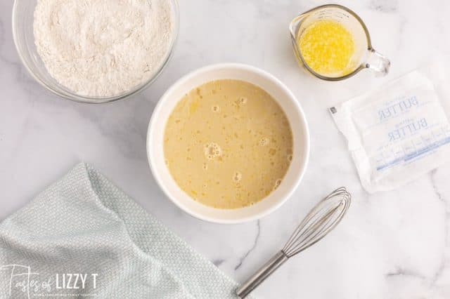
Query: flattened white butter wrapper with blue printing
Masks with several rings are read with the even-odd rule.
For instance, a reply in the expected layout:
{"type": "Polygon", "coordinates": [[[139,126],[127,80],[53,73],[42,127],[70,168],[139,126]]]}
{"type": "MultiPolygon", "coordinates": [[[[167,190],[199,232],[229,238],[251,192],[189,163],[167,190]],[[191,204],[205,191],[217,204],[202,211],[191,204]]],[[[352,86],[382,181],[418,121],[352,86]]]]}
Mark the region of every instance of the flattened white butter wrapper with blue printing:
{"type": "Polygon", "coordinates": [[[368,192],[395,189],[450,160],[446,69],[442,60],[430,63],[330,108],[368,192]]]}

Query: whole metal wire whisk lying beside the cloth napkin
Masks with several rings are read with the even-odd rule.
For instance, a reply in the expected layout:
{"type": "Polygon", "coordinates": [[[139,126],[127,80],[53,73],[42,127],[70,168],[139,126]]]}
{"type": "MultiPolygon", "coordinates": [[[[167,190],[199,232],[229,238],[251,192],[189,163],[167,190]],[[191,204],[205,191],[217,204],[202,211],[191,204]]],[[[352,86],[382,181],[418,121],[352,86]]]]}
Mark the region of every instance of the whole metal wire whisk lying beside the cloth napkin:
{"type": "Polygon", "coordinates": [[[314,206],[295,229],[283,249],[278,251],[273,258],[238,288],[236,294],[239,298],[245,298],[286,260],[316,244],[333,230],[349,208],[351,198],[352,196],[345,190],[345,187],[340,187],[319,201],[319,204],[314,206]]]}

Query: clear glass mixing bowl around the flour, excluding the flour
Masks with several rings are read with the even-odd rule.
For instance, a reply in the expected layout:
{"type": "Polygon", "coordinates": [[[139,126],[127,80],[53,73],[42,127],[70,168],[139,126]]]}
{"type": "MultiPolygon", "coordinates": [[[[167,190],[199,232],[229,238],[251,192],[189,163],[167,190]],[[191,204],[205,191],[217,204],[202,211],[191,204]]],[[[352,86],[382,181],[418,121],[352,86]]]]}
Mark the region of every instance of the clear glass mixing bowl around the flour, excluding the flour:
{"type": "Polygon", "coordinates": [[[168,0],[172,7],[173,15],[173,34],[172,40],[170,41],[169,51],[162,60],[161,65],[155,71],[152,77],[142,84],[135,86],[130,91],[120,93],[113,96],[107,97],[89,97],[84,95],[78,95],[77,93],[70,91],[65,86],[59,84],[49,72],[41,60],[39,54],[37,53],[37,48],[34,45],[34,34],[33,34],[33,21],[34,21],[34,8],[36,7],[37,0],[15,0],[13,6],[13,39],[15,47],[22,60],[23,64],[27,68],[28,72],[32,75],[36,81],[42,86],[47,88],[49,91],[60,95],[63,98],[69,100],[74,100],[77,102],[87,102],[87,103],[102,103],[102,102],[113,102],[115,100],[121,100],[124,98],[129,98],[129,96],[142,91],[144,88],[150,86],[150,84],[161,74],[162,69],[165,68],[167,62],[172,57],[174,51],[174,45],[176,41],[176,36],[179,30],[179,7],[176,0],[168,0]]]}

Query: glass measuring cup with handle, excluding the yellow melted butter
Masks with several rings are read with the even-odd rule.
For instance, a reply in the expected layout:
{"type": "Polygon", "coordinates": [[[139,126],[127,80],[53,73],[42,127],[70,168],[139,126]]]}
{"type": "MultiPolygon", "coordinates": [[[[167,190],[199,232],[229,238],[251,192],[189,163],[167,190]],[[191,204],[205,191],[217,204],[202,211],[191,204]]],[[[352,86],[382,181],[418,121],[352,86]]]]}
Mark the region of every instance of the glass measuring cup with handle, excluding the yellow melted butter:
{"type": "Polygon", "coordinates": [[[371,69],[374,72],[385,75],[389,72],[390,61],[375,51],[371,44],[371,36],[363,20],[356,13],[345,6],[327,4],[313,8],[294,18],[289,26],[290,36],[297,61],[314,76],[328,81],[339,81],[354,76],[361,69],[371,69]],[[298,46],[298,40],[304,30],[318,20],[333,20],[339,22],[352,34],[354,40],[354,53],[351,58],[352,71],[342,76],[327,76],[314,72],[305,62],[302,51],[298,46]]]}

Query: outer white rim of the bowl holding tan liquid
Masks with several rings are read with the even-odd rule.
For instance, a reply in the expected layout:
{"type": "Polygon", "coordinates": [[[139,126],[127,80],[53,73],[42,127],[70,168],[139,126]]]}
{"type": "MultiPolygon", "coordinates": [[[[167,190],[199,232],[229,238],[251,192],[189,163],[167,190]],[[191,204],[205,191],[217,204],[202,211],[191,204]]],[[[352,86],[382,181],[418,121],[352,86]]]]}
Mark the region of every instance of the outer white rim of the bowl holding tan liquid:
{"type": "MultiPolygon", "coordinates": [[[[232,79],[232,78],[230,78],[230,79],[232,79]]],[[[211,80],[214,80],[214,79],[211,79],[211,80]]],[[[243,80],[243,81],[245,81],[245,80],[243,80]]],[[[263,88],[263,87],[261,87],[261,88],[263,88]]],[[[163,129],[164,128],[165,128],[165,124],[163,126],[163,129]]],[[[290,199],[292,197],[293,192],[295,192],[295,190],[297,190],[297,187],[300,185],[300,182],[302,181],[304,173],[307,170],[307,166],[309,163],[309,148],[310,148],[309,127],[308,127],[306,116],[304,114],[302,106],[300,105],[300,102],[298,102],[297,98],[292,93],[292,91],[290,91],[288,86],[285,86],[285,84],[283,84],[283,82],[281,82],[280,79],[276,78],[273,74],[266,72],[264,69],[259,69],[258,67],[254,67],[252,65],[246,65],[246,64],[242,64],[242,63],[233,63],[233,62],[217,63],[217,64],[213,64],[213,65],[207,65],[205,67],[200,67],[199,69],[195,69],[192,72],[188,72],[183,77],[176,80],[174,82],[174,84],[172,84],[172,86],[170,86],[167,89],[167,91],[165,91],[165,93],[161,96],[160,100],[158,101],[157,105],[155,106],[155,109],[153,109],[152,116],[150,117],[150,121],[148,123],[147,140],[146,140],[147,159],[148,159],[148,165],[150,166],[150,171],[153,174],[153,178],[155,178],[155,181],[160,186],[162,192],[164,192],[165,196],[168,197],[170,199],[170,201],[172,201],[172,203],[174,203],[176,206],[178,206],[182,211],[188,213],[188,215],[191,215],[194,218],[198,218],[200,220],[218,223],[218,224],[239,224],[239,223],[243,223],[243,222],[250,222],[252,220],[259,220],[261,218],[264,218],[266,215],[273,213],[280,206],[285,204],[285,202],[288,201],[288,199],[290,199]],[[297,176],[295,181],[290,186],[290,190],[288,191],[288,193],[285,195],[285,197],[283,199],[281,199],[280,201],[277,201],[276,204],[274,204],[270,208],[266,208],[264,211],[255,213],[254,215],[249,215],[247,217],[237,218],[237,219],[213,218],[213,217],[210,217],[207,215],[203,215],[201,213],[196,213],[195,211],[192,211],[190,208],[184,206],[184,204],[181,204],[181,202],[179,200],[172,197],[172,194],[167,190],[165,183],[162,182],[160,175],[156,172],[155,167],[153,166],[153,162],[152,162],[153,154],[150,154],[151,129],[154,125],[155,119],[157,118],[158,114],[160,113],[160,109],[162,109],[162,106],[165,105],[165,102],[167,100],[167,95],[172,93],[172,91],[174,91],[174,89],[178,88],[179,85],[181,85],[185,81],[188,81],[189,79],[191,79],[191,77],[195,77],[196,75],[198,75],[202,72],[208,72],[208,71],[211,71],[214,69],[221,69],[221,68],[245,69],[250,72],[255,72],[255,73],[261,75],[262,77],[266,77],[267,79],[270,79],[271,81],[274,81],[274,83],[276,83],[280,88],[283,89],[283,91],[285,91],[285,93],[287,93],[289,95],[289,98],[292,100],[295,107],[297,107],[297,111],[300,113],[300,118],[301,118],[300,121],[302,122],[303,129],[304,129],[305,143],[304,143],[304,159],[303,159],[304,161],[302,164],[302,170],[300,171],[300,175],[297,176]]],[[[176,185],[176,187],[179,188],[178,185],[176,185]]],[[[180,190],[181,190],[181,188],[180,188],[180,190]]],[[[183,190],[181,190],[181,191],[184,192],[183,190]]],[[[262,199],[262,200],[264,200],[264,199],[262,199]]]]}

